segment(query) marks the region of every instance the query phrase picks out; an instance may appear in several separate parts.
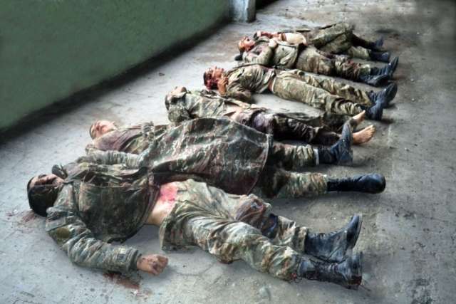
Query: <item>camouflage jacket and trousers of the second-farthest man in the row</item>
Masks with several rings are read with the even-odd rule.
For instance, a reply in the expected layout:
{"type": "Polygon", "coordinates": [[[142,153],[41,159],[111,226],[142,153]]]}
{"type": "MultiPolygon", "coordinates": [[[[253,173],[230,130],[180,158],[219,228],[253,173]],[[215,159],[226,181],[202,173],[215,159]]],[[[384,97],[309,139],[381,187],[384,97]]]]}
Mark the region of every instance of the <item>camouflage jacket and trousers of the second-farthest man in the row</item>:
{"type": "Polygon", "coordinates": [[[346,56],[324,53],[314,46],[292,45],[279,42],[276,48],[268,46],[269,38],[260,37],[249,52],[243,53],[247,63],[259,63],[271,68],[296,68],[305,72],[328,76],[339,76],[358,80],[360,75],[371,73],[371,67],[355,63],[346,56]]]}

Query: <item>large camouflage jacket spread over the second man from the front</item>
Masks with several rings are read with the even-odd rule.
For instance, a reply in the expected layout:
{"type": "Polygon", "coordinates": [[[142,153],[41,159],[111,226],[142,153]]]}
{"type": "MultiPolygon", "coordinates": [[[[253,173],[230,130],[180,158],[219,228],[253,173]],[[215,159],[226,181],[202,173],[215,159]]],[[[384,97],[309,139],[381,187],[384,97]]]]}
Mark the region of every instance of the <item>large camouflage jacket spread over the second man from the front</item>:
{"type": "Polygon", "coordinates": [[[129,167],[145,165],[158,184],[192,178],[229,193],[247,194],[257,183],[272,145],[269,135],[214,118],[189,120],[158,131],[140,155],[109,151],[98,159],[96,152],[90,152],[89,160],[103,163],[108,158],[129,167]]]}

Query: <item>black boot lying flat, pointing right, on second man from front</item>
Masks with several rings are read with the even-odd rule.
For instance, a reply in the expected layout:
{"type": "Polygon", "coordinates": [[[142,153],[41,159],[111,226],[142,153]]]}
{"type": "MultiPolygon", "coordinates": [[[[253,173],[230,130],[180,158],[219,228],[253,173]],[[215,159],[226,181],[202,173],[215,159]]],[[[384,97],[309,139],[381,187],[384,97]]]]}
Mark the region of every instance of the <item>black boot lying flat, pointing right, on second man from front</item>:
{"type": "Polygon", "coordinates": [[[370,173],[360,174],[354,177],[346,177],[343,179],[328,179],[328,192],[365,192],[365,193],[380,193],[385,190],[386,181],[382,174],[370,173]]]}

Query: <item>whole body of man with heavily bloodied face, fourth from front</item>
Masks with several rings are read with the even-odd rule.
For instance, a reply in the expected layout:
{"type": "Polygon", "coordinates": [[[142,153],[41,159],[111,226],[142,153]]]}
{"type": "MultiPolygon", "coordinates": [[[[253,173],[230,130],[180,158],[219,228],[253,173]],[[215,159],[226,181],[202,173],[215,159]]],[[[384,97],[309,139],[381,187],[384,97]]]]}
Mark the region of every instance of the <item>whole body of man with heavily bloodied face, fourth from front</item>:
{"type": "Polygon", "coordinates": [[[301,70],[276,70],[257,63],[247,63],[225,71],[209,68],[203,75],[209,90],[244,102],[252,100],[252,93],[271,91],[286,100],[306,103],[314,108],[340,115],[357,115],[366,110],[366,117],[380,120],[383,108],[397,92],[391,83],[379,93],[366,92],[330,78],[321,78],[301,70]]]}

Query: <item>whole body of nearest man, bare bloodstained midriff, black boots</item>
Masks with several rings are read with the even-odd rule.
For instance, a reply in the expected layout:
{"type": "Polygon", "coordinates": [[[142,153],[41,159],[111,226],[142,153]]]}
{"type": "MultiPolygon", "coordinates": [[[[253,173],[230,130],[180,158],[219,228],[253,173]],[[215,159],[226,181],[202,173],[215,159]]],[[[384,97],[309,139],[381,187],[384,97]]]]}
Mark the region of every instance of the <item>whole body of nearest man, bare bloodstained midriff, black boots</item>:
{"type": "Polygon", "coordinates": [[[316,234],[273,214],[253,194],[227,194],[193,179],[157,184],[147,167],[130,169],[109,159],[80,163],[65,179],[45,174],[27,184],[31,209],[46,216],[46,231],[79,266],[160,274],[165,256],[111,243],[152,224],[160,226],[164,250],[199,246],[219,261],[240,259],[286,281],[307,278],[348,288],[361,283],[362,253],[352,253],[359,216],[340,231],[316,234]]]}

